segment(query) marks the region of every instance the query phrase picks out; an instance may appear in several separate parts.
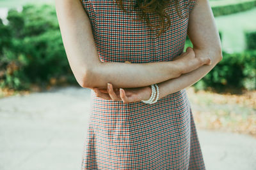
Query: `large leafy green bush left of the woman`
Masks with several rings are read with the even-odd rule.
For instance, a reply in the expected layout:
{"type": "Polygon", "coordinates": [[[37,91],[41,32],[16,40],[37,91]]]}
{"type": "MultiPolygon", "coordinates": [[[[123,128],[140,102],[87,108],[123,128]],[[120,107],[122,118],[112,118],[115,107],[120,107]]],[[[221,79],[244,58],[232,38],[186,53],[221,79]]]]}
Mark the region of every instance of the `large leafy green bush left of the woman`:
{"type": "Polygon", "coordinates": [[[7,19],[0,22],[0,87],[29,89],[72,75],[54,6],[27,4],[9,10],[7,19]]]}

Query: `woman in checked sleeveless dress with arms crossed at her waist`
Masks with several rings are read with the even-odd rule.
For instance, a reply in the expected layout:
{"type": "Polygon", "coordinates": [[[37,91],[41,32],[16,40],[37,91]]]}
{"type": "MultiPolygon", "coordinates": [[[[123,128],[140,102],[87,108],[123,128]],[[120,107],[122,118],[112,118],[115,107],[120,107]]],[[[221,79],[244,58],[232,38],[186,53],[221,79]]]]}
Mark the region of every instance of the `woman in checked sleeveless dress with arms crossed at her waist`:
{"type": "Polygon", "coordinates": [[[74,76],[92,89],[81,169],[205,169],[185,88],[222,59],[209,2],[56,0],[56,12],[74,76]]]}

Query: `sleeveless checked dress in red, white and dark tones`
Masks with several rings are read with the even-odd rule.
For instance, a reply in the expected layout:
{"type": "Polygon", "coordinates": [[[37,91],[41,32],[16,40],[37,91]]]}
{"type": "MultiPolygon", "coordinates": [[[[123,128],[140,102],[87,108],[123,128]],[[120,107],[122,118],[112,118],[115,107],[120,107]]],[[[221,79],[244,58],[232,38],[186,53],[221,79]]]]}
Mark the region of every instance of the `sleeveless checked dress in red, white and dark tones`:
{"type": "MultiPolygon", "coordinates": [[[[180,0],[188,15],[196,0],[180,0]]],[[[136,0],[123,0],[125,9],[136,0]]],[[[170,61],[180,55],[188,17],[180,18],[175,4],[166,13],[171,27],[159,29],[134,21],[136,11],[125,13],[113,0],[83,0],[102,62],[146,63],[170,61]]],[[[156,15],[148,15],[152,24],[156,15]]],[[[125,81],[125,80],[124,80],[125,81]]],[[[169,94],[154,104],[123,103],[95,96],[91,90],[90,123],[84,139],[81,169],[205,169],[186,90],[169,94]]]]}

